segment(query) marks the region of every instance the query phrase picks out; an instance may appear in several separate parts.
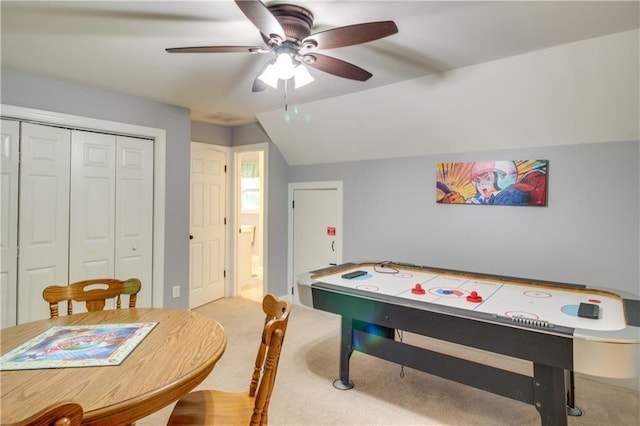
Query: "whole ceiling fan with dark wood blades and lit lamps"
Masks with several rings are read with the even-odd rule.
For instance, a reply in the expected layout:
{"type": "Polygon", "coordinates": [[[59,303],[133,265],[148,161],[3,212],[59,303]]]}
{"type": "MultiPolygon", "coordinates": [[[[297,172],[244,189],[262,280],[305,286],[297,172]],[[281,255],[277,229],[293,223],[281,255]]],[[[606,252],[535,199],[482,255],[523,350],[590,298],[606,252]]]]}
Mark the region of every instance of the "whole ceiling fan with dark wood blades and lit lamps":
{"type": "Polygon", "coordinates": [[[351,80],[366,81],[372,74],[356,65],[317,53],[321,49],[367,43],[398,32],[393,21],[348,25],[311,34],[313,14],[293,4],[265,5],[259,0],[235,0],[240,10],[255,25],[266,43],[262,46],[174,47],[169,53],[270,53],[276,58],[265,64],[253,83],[253,92],[267,86],[277,88],[278,81],[293,77],[295,87],[313,81],[304,65],[351,80]]]}

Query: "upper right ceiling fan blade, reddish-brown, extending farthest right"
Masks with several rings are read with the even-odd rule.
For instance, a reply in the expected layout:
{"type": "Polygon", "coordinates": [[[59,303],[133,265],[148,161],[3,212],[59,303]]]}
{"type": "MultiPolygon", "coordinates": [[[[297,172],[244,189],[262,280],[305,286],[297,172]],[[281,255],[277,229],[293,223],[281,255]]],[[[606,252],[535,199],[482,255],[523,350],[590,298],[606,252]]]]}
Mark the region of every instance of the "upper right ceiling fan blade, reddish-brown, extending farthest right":
{"type": "Polygon", "coordinates": [[[397,32],[398,27],[393,21],[367,22],[311,34],[302,40],[302,45],[315,45],[317,49],[333,49],[367,43],[397,32]]]}

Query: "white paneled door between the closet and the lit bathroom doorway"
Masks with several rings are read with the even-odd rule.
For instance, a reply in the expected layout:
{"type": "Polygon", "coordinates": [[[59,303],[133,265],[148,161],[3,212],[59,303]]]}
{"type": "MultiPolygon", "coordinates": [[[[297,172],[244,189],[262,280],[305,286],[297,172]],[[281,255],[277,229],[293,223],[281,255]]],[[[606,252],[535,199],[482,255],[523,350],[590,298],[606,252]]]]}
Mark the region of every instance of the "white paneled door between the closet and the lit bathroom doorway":
{"type": "Polygon", "coordinates": [[[191,143],[189,307],[224,297],[226,154],[191,143]]]}

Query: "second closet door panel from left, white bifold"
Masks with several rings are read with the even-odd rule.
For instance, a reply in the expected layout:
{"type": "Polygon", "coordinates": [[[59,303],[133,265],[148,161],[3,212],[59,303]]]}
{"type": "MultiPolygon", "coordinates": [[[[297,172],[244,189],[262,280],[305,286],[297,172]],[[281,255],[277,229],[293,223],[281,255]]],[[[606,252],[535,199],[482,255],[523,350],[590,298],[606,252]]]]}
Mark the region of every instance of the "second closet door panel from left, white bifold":
{"type": "Polygon", "coordinates": [[[48,318],[42,290],[68,282],[70,145],[67,129],[22,124],[18,323],[48,318]]]}

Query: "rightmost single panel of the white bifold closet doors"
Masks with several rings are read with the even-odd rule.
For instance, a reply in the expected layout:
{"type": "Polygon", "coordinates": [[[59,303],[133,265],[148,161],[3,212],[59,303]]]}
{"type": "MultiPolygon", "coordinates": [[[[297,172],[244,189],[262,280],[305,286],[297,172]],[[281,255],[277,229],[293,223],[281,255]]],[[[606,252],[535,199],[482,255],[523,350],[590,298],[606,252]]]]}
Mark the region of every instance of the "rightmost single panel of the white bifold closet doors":
{"type": "Polygon", "coordinates": [[[137,306],[152,306],[153,143],[117,137],[115,274],[139,278],[137,306]]]}

